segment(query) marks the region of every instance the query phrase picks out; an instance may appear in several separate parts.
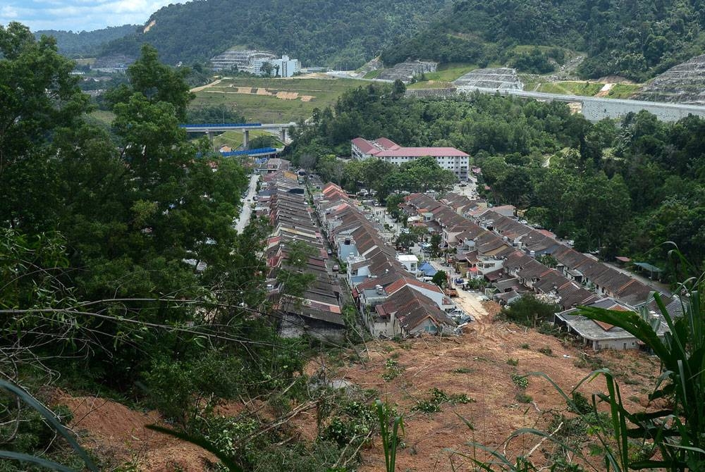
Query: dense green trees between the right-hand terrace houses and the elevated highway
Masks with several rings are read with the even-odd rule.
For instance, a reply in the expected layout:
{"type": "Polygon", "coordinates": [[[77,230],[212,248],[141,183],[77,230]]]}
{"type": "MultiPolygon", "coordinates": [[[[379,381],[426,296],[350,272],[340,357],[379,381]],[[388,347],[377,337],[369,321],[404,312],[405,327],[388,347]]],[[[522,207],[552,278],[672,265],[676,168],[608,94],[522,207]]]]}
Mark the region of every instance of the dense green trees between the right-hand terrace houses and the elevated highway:
{"type": "MultiPolygon", "coordinates": [[[[293,159],[348,190],[373,188],[383,198],[423,190],[400,179],[404,168],[335,159],[350,155],[355,137],[458,147],[482,168],[489,201],[517,206],[529,221],[575,240],[577,249],[661,263],[661,243],[670,240],[699,266],[705,259],[700,118],[664,123],[642,112],[623,123],[589,123],[558,102],[406,98],[398,82],[346,92],[314,121],[293,143],[293,159]]],[[[443,187],[437,178],[428,182],[426,188],[443,187]]]]}

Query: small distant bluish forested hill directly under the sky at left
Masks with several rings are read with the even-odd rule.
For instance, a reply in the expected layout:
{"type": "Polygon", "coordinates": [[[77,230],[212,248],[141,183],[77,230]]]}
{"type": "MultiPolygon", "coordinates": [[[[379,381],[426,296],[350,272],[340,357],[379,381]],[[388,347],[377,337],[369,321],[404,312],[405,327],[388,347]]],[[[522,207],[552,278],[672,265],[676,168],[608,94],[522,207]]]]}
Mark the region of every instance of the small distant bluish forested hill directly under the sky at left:
{"type": "Polygon", "coordinates": [[[56,46],[64,56],[95,56],[101,47],[107,42],[123,36],[131,35],[140,27],[137,25],[110,26],[102,30],[95,31],[57,31],[39,30],[35,31],[35,37],[39,39],[42,35],[56,38],[56,46]]]}

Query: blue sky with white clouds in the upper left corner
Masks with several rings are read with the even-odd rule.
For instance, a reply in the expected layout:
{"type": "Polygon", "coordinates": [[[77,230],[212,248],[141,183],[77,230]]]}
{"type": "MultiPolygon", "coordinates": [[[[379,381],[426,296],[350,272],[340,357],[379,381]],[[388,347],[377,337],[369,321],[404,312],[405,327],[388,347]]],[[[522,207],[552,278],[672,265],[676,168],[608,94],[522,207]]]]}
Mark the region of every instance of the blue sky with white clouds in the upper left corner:
{"type": "Polygon", "coordinates": [[[149,15],[185,0],[1,0],[0,25],[19,21],[30,30],[99,30],[142,25],[149,15]]]}

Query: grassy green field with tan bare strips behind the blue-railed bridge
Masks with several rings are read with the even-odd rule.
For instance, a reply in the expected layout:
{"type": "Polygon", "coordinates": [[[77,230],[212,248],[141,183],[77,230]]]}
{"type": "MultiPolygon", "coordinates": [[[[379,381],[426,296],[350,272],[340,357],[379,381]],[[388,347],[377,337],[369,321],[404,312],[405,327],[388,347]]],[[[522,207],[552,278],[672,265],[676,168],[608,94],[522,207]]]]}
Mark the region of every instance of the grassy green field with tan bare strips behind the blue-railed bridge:
{"type": "Polygon", "coordinates": [[[345,90],[367,85],[368,82],[352,79],[264,79],[261,77],[234,77],[223,80],[216,87],[196,93],[191,106],[233,106],[245,115],[247,121],[257,123],[288,123],[309,118],[314,108],[333,105],[345,90]],[[314,97],[283,100],[273,96],[233,93],[233,87],[266,88],[269,92],[298,92],[314,97]]]}

